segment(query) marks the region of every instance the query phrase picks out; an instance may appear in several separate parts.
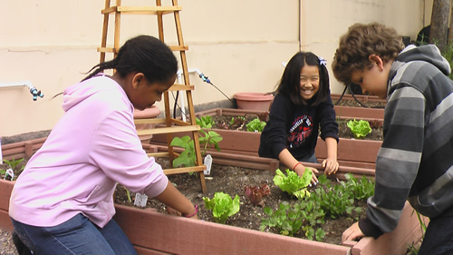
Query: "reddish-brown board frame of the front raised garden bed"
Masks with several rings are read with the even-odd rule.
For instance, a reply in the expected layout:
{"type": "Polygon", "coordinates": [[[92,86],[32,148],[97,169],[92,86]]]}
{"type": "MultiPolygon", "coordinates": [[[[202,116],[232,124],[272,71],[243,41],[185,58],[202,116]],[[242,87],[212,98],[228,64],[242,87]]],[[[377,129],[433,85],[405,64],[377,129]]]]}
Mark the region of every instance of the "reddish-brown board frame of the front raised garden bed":
{"type": "MultiPolygon", "coordinates": [[[[17,144],[10,144],[14,147],[17,144]]],[[[6,146],[6,145],[5,145],[6,146]]],[[[24,143],[18,147],[24,146],[24,143]]],[[[5,147],[2,147],[4,149],[5,147]]],[[[159,147],[144,145],[146,150],[159,147]]],[[[8,158],[10,155],[5,154],[8,158]]],[[[7,151],[6,151],[7,152],[7,151]]],[[[236,156],[230,154],[230,161],[236,156]]],[[[260,160],[257,160],[258,162],[260,160]]],[[[269,167],[270,168],[270,167],[269,167]]],[[[8,206],[14,181],[0,180],[0,228],[13,230],[8,206]]],[[[115,221],[125,231],[139,254],[406,254],[420,240],[419,220],[407,204],[396,230],[378,240],[363,238],[344,245],[303,240],[223,224],[172,217],[155,211],[115,205],[115,221]]]]}

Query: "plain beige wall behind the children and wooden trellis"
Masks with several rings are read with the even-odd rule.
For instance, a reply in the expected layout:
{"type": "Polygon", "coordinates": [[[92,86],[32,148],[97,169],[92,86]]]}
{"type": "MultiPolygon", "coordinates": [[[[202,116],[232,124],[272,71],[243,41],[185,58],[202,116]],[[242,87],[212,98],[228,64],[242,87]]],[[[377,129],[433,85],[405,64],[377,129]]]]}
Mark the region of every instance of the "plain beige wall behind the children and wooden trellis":
{"type": "MultiPolygon", "coordinates": [[[[115,2],[115,1],[111,1],[115,2]]],[[[122,5],[154,1],[123,0],[122,5]]],[[[169,5],[169,1],[162,1],[169,5]]],[[[150,4],[149,4],[150,3],[150,4]]],[[[413,39],[430,21],[432,0],[179,0],[182,31],[188,44],[188,68],[198,68],[223,93],[270,92],[282,63],[299,49],[332,63],[338,38],[355,22],[377,21],[413,39]],[[425,6],[425,7],[424,7],[425,6]],[[429,17],[427,17],[429,16],[429,17]],[[425,23],[423,24],[423,18],[425,23]]],[[[84,77],[99,62],[101,0],[17,0],[0,9],[0,136],[50,130],[62,116],[62,97],[51,100],[84,77]],[[36,102],[28,80],[44,93],[36,102]]],[[[109,42],[112,43],[113,16],[109,42]]],[[[166,42],[175,44],[173,18],[164,20],[166,42]]],[[[122,15],[120,39],[157,36],[155,17],[122,15]]],[[[216,88],[189,75],[195,104],[226,100],[216,88]]],[[[332,90],[342,92],[333,76],[332,90]]],[[[158,106],[162,109],[161,104],[158,106]]],[[[83,120],[81,120],[82,122],[83,120]]]]}

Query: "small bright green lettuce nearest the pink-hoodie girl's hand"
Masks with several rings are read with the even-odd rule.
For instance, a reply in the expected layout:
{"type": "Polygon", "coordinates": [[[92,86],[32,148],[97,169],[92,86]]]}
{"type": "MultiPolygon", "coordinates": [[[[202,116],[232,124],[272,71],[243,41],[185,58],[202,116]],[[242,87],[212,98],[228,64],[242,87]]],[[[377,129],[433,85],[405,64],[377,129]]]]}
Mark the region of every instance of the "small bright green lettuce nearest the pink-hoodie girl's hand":
{"type": "Polygon", "coordinates": [[[204,197],[203,200],[207,210],[212,210],[212,217],[217,223],[225,224],[228,217],[236,214],[240,209],[238,195],[232,199],[224,192],[216,192],[212,200],[207,197],[204,197]]]}

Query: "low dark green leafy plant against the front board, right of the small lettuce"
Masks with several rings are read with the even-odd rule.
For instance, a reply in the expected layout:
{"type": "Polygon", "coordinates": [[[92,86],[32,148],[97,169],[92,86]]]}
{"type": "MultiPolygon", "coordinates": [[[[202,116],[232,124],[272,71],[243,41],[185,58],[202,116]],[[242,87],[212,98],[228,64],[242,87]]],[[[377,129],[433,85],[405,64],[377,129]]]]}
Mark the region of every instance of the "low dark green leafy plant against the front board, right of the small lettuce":
{"type": "Polygon", "coordinates": [[[267,218],[262,218],[260,230],[267,227],[279,230],[280,234],[294,236],[301,229],[307,239],[323,240],[325,232],[323,229],[314,227],[324,223],[324,212],[318,204],[307,201],[296,201],[290,204],[284,201],[279,204],[278,209],[273,211],[269,207],[264,209],[267,218]]]}

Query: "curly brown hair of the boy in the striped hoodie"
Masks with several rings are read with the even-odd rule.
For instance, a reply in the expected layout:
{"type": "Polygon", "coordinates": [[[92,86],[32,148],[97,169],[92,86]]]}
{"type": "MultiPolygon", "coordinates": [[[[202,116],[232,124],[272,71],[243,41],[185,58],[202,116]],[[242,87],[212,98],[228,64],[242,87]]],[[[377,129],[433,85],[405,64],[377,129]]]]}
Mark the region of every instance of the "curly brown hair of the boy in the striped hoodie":
{"type": "Polygon", "coordinates": [[[369,56],[377,54],[384,62],[395,59],[404,49],[402,36],[395,29],[379,23],[354,24],[340,38],[333,56],[332,70],[335,78],[351,84],[351,74],[356,70],[371,68],[369,56]]]}

